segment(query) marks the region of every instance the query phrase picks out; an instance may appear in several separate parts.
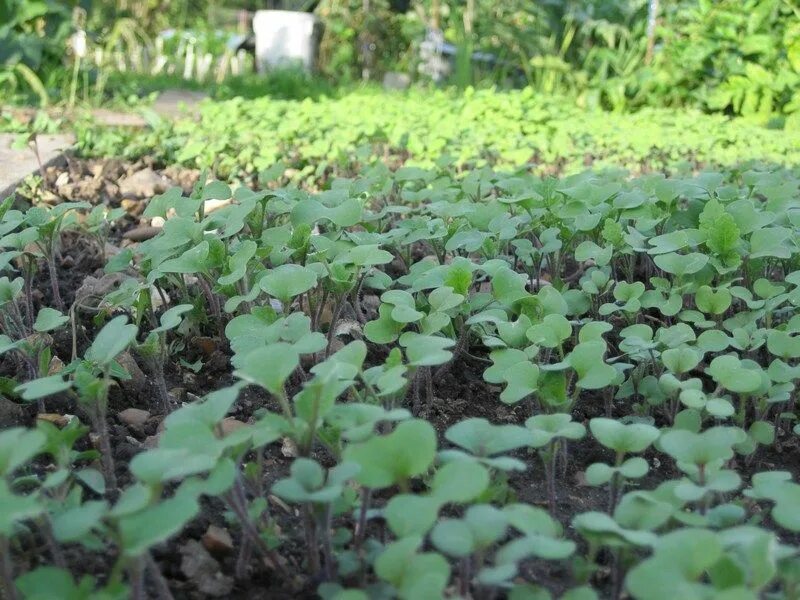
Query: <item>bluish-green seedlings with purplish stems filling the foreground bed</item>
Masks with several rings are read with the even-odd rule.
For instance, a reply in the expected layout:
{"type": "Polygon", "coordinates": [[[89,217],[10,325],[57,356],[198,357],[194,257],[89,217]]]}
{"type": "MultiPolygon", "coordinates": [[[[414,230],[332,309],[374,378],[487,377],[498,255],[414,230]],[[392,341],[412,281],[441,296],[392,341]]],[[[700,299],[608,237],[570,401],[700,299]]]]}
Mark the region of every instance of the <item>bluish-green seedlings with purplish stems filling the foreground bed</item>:
{"type": "Polygon", "coordinates": [[[798,597],[792,172],[259,180],[3,205],[8,597],[798,597]]]}

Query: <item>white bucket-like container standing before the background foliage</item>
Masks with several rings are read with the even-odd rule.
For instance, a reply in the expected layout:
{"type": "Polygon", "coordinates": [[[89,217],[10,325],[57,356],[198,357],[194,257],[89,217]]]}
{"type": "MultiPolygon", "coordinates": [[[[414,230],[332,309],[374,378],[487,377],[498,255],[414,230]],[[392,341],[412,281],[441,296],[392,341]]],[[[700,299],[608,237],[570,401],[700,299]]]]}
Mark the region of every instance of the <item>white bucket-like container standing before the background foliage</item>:
{"type": "Polygon", "coordinates": [[[259,10],[253,17],[256,34],[256,67],[300,65],[314,67],[317,53],[317,17],[291,10],[259,10]]]}

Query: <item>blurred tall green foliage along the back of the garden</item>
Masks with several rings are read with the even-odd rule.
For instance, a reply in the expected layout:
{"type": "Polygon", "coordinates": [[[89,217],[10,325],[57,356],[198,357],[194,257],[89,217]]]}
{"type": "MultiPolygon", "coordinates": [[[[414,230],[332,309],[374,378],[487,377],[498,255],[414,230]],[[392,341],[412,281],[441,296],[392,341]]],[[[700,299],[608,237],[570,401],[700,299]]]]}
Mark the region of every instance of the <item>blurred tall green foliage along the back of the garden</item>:
{"type": "MultiPolygon", "coordinates": [[[[313,10],[324,24],[319,74],[336,85],[380,80],[390,71],[419,78],[419,47],[429,29],[452,45],[449,83],[531,86],[584,106],[634,110],[694,107],[790,125],[800,110],[800,3],[797,0],[671,0],[657,3],[648,56],[645,0],[322,0],[276,3],[313,10]],[[470,60],[480,53],[481,60],[470,60]]],[[[88,33],[86,99],[106,98],[106,71],[172,73],[208,56],[192,78],[221,82],[248,69],[236,63],[221,32],[246,26],[243,0],[2,0],[0,77],[11,94],[45,101],[72,80],[69,36],[88,33]],[[158,35],[175,29],[174,42],[158,35]],[[183,37],[188,35],[188,38],[183,37]],[[187,57],[189,39],[192,55],[187,57]],[[172,44],[172,45],[170,45],[172,44]],[[177,44],[177,45],[176,45],[177,44]],[[98,58],[101,57],[101,58],[98,58]],[[162,62],[172,63],[163,65],[162,62]],[[94,86],[93,88],[91,86],[94,86]]],[[[145,86],[147,87],[147,86],[145,86]]],[[[265,93],[269,93],[267,90],[265,93]]],[[[9,92],[6,92],[8,95],[9,92]]]]}

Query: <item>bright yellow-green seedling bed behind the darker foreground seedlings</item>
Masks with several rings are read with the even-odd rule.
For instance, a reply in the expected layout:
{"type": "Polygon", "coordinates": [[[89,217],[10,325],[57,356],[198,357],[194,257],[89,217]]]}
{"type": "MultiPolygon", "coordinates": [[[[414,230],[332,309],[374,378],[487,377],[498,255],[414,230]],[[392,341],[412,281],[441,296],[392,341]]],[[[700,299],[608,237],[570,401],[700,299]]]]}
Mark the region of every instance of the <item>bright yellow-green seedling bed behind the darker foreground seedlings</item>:
{"type": "Polygon", "coordinates": [[[278,161],[295,169],[298,180],[330,171],[351,176],[374,153],[394,165],[528,165],[543,174],[587,167],[691,171],[752,159],[780,165],[800,160],[800,131],[684,109],[632,115],[587,110],[530,89],[460,96],[363,90],[302,102],[238,98],[204,104],[199,124],[162,122],[144,132],[89,126],[79,137],[88,155],[148,155],[209,168],[223,178],[252,176],[278,161]]]}

